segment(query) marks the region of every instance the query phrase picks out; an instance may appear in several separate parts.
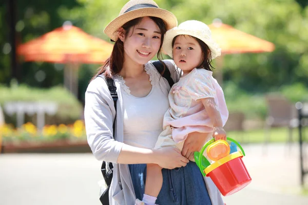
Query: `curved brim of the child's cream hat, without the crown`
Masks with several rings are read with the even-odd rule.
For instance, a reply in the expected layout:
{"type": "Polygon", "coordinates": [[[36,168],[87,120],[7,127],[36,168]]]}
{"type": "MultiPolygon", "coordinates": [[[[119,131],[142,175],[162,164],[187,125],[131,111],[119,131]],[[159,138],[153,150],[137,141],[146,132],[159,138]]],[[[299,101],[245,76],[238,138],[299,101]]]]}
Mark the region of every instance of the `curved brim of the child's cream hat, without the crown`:
{"type": "Polygon", "coordinates": [[[174,28],[174,29],[167,31],[167,33],[165,34],[164,43],[162,46],[163,51],[172,58],[173,58],[172,40],[178,35],[190,35],[190,36],[194,36],[202,40],[209,47],[211,51],[211,57],[212,57],[211,59],[214,59],[221,55],[221,49],[219,48],[218,44],[215,43],[213,40],[205,38],[205,36],[202,36],[201,33],[198,33],[198,32],[194,33],[190,30],[174,28]]]}

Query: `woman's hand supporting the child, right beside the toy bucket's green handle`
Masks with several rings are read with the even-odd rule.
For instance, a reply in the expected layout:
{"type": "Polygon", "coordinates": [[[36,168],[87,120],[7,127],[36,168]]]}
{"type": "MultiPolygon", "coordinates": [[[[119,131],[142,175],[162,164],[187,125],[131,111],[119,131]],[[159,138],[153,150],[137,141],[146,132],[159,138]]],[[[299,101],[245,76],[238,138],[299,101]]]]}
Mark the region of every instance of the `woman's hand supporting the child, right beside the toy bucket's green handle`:
{"type": "Polygon", "coordinates": [[[182,149],[182,155],[190,161],[194,161],[194,153],[199,152],[207,141],[207,134],[192,132],[188,134],[182,149]]]}

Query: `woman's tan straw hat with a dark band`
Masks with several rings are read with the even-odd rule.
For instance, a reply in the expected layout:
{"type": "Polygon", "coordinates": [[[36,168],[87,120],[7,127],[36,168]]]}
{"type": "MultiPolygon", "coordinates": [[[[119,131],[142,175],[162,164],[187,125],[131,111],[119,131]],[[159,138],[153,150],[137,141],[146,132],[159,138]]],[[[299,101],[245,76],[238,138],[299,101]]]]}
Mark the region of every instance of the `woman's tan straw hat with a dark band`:
{"type": "Polygon", "coordinates": [[[114,18],[104,29],[104,33],[113,41],[116,41],[117,31],[125,23],[138,17],[154,16],[164,20],[167,30],[178,25],[177,17],[171,12],[160,9],[152,0],[130,0],[127,2],[118,17],[114,18]]]}

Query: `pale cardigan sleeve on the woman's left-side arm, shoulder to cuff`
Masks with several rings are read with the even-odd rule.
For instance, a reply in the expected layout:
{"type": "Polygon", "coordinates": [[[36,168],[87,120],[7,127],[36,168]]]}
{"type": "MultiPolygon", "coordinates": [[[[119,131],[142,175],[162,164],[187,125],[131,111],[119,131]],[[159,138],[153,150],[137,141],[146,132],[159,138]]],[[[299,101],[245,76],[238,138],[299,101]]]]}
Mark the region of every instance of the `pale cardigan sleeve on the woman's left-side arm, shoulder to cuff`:
{"type": "Polygon", "coordinates": [[[97,77],[89,84],[84,112],[87,140],[93,155],[98,160],[117,162],[123,143],[112,136],[115,110],[103,78],[97,77]]]}

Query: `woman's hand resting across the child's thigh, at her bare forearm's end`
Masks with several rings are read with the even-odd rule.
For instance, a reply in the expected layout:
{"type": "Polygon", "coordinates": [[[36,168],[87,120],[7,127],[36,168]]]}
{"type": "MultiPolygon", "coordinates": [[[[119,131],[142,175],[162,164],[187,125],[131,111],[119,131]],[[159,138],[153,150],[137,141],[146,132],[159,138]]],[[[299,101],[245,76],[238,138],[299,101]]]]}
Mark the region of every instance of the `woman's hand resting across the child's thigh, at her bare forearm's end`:
{"type": "Polygon", "coordinates": [[[177,167],[185,167],[189,162],[188,159],[181,155],[177,148],[167,147],[153,150],[156,153],[156,163],[165,169],[175,169],[177,167]]]}

